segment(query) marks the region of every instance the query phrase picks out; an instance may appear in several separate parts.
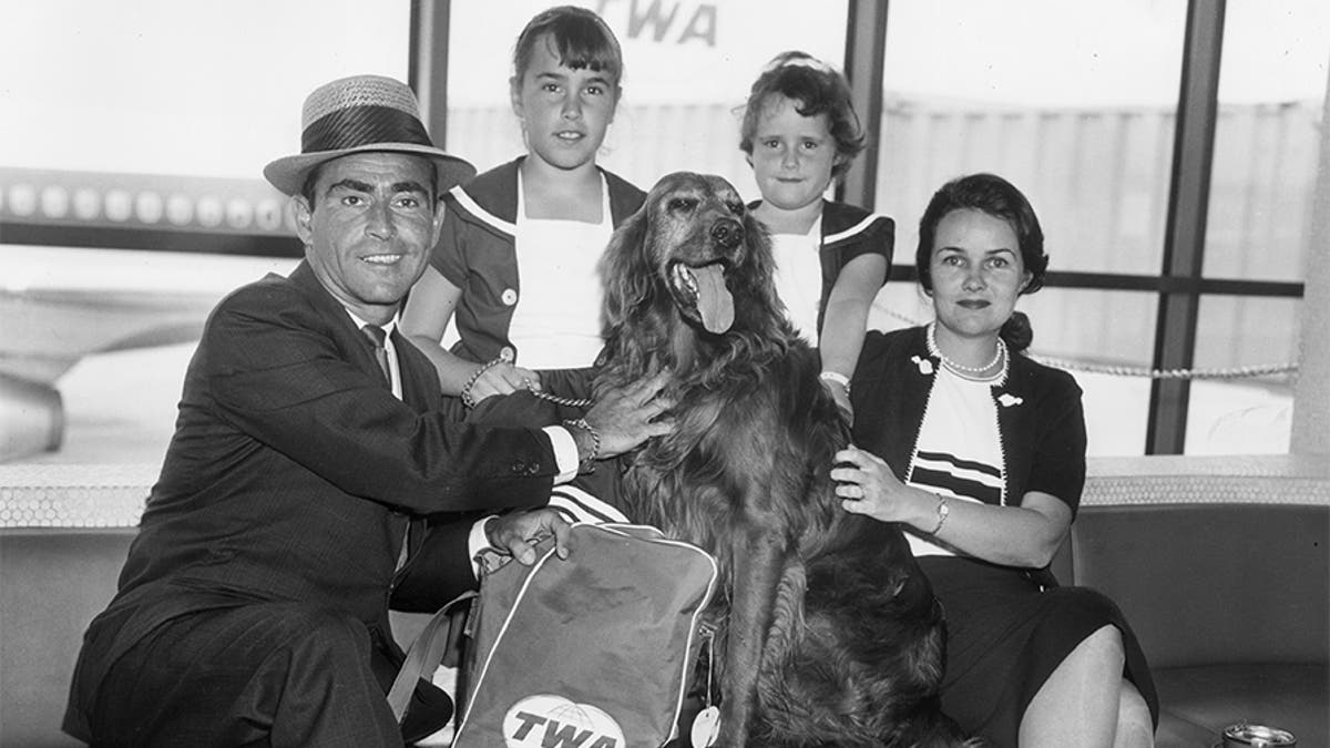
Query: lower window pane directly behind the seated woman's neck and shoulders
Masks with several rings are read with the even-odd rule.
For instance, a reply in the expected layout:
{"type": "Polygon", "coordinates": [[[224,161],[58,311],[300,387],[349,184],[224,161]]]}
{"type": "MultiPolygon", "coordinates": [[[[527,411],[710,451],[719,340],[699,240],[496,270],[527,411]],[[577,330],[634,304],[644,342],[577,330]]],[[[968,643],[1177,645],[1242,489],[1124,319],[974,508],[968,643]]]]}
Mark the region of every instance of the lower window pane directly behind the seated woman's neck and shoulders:
{"type": "MultiPolygon", "coordinates": [[[[1076,377],[1084,391],[1091,457],[1145,454],[1154,294],[1045,287],[1021,297],[1035,341],[1029,354],[1076,377]]],[[[932,319],[914,282],[878,294],[868,326],[894,330],[932,319]]]]}

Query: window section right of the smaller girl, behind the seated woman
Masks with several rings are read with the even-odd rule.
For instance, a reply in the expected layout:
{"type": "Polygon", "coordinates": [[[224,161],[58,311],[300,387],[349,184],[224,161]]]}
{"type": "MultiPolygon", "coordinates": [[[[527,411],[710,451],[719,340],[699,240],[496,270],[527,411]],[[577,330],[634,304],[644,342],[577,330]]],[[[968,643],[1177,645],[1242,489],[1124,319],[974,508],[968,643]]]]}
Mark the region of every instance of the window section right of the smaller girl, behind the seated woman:
{"type": "MultiPolygon", "coordinates": [[[[1192,138],[1182,168],[1209,169],[1210,181],[1174,184],[1184,56],[1193,68],[1216,61],[1218,48],[1205,43],[1217,27],[1206,21],[1224,5],[1196,5],[1190,51],[1185,3],[888,5],[874,194],[900,225],[896,260],[912,262],[918,217],[943,181],[991,170],[1020,186],[1040,214],[1055,276],[1021,302],[1032,353],[1085,389],[1091,454],[1181,450],[1184,431],[1189,454],[1289,446],[1330,7],[1228,3],[1214,121],[1197,80],[1182,102],[1193,132],[1214,132],[1213,160],[1192,138]],[[1202,189],[1208,205],[1188,212],[1198,196],[1186,190],[1202,189]],[[1189,236],[1193,225],[1206,236],[1189,236]],[[1204,273],[1170,277],[1189,256],[1197,269],[1204,257],[1204,273]],[[1177,358],[1190,361],[1184,371],[1177,358]],[[1148,430],[1172,433],[1148,443],[1148,430]]],[[[878,305],[900,295],[888,289],[878,305]]]]}

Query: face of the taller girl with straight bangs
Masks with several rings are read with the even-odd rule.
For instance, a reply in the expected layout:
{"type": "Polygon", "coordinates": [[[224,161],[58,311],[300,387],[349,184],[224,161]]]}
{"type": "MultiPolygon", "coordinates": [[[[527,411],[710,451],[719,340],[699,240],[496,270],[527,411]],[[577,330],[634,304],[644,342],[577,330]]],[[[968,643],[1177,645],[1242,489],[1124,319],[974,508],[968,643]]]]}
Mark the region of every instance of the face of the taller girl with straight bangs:
{"type": "Polygon", "coordinates": [[[527,149],[560,169],[596,160],[617,101],[618,88],[608,73],[564,65],[548,35],[535,41],[521,79],[512,80],[512,109],[523,122],[527,149]]]}

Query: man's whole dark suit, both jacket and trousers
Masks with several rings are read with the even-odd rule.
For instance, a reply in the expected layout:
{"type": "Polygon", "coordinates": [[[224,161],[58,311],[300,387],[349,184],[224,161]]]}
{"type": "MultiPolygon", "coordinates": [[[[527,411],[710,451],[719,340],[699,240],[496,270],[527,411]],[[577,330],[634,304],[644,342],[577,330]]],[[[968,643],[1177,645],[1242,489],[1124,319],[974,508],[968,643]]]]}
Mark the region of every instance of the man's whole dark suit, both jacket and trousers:
{"type": "Polygon", "coordinates": [[[262,732],[265,721],[291,713],[274,717],[274,699],[283,709],[310,700],[297,723],[323,719],[334,695],[350,696],[350,707],[338,708],[359,711],[332,717],[352,731],[380,723],[378,733],[286,739],[392,741],[383,692],[402,652],[388,631],[390,602],[428,610],[475,583],[469,522],[436,522],[428,532],[414,522],[411,558],[395,572],[408,516],[540,504],[557,472],[537,430],[442,415],[434,367],[400,334],[392,341],[400,401],[309,265],[218,305],[189,365],[120,590],[85,635],[68,732],[106,741],[110,724],[140,731],[113,743],[146,743],[156,729],[164,732],[154,739],[168,741],[174,728],[161,725],[196,709],[194,719],[218,720],[197,733],[206,743],[242,743],[251,736],[227,733],[227,720],[262,732]],[[336,650],[331,657],[326,643],[336,650]],[[315,657],[298,661],[311,647],[315,657]],[[274,651],[290,661],[274,665],[274,651]],[[346,681],[321,680],[355,668],[346,681]],[[258,671],[270,683],[257,696],[254,687],[231,693],[258,671]],[[375,688],[374,697],[358,692],[375,688]],[[364,699],[371,704],[358,703],[364,699]],[[138,713],[117,713],[125,709],[138,713]]]}

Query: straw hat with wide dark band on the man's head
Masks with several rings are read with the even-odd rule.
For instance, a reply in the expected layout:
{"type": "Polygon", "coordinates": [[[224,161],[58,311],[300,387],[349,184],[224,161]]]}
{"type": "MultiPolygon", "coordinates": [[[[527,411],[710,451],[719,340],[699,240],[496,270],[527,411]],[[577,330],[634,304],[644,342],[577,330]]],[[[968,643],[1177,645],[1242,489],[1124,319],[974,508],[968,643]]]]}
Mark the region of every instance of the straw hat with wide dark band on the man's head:
{"type": "Polygon", "coordinates": [[[351,76],[321,85],[305,100],[301,153],[263,166],[277,189],[295,194],[310,169],[351,153],[414,153],[434,160],[443,193],[476,173],[456,156],[434,146],[420,121],[415,93],[383,76],[351,76]]]}

